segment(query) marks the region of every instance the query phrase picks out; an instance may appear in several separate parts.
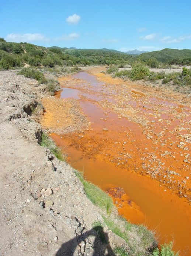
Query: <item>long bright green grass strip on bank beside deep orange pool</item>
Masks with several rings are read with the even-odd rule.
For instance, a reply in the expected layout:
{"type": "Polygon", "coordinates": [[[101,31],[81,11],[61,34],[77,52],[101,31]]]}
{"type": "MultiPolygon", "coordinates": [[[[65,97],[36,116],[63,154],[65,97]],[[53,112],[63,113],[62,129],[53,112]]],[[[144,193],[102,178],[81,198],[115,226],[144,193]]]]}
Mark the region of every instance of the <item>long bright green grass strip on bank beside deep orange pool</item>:
{"type": "Polygon", "coordinates": [[[75,174],[83,184],[86,195],[90,201],[94,205],[99,206],[101,209],[105,210],[107,215],[110,215],[112,209],[114,208],[111,197],[99,187],[95,186],[93,183],[85,180],[80,172],[75,171],[75,174]]]}

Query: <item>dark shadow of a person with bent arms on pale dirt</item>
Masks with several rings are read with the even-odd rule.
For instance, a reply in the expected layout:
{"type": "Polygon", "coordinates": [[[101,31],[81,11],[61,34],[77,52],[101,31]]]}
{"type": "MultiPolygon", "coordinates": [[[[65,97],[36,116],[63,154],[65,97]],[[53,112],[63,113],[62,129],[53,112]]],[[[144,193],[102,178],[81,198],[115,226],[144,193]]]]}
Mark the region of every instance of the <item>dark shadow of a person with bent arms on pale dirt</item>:
{"type": "Polygon", "coordinates": [[[93,256],[115,256],[109,243],[108,234],[104,232],[103,227],[101,226],[96,226],[90,231],[81,233],[81,235],[76,235],[73,239],[63,243],[56,253],[56,256],[73,256],[78,245],[81,245],[80,251],[82,255],[89,255],[90,248],[86,244],[86,238],[89,236],[95,237],[93,243],[93,256]]]}

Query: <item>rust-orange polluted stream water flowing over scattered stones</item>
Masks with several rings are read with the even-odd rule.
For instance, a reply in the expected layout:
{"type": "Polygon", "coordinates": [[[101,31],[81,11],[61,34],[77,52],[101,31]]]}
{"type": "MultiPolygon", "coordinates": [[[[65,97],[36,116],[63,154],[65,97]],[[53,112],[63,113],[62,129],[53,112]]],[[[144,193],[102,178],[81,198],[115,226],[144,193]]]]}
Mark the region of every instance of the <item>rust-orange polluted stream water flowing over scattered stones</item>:
{"type": "Polygon", "coordinates": [[[113,88],[107,90],[95,76],[80,72],[71,77],[67,87],[65,81],[60,79],[65,87],[56,97],[76,99],[91,123],[83,132],[51,134],[67,153],[68,162],[112,196],[119,214],[154,230],[159,243],[173,241],[181,255],[191,255],[190,180],[187,187],[183,182],[190,172],[190,155],[182,149],[184,145],[187,150],[187,144],[178,140],[187,139],[190,109],[154,97],[141,98],[142,103],[139,97],[144,94],[132,91],[127,102],[136,108],[134,116],[147,117],[151,126],[144,126],[133,121],[132,113],[129,118],[117,113],[115,106],[121,104],[117,103],[117,93],[113,88]],[[131,99],[132,95],[136,96],[131,99]],[[102,107],[100,102],[105,100],[110,105],[104,103],[102,107]],[[114,107],[109,107],[111,104],[114,107]],[[160,117],[154,116],[155,104],[160,105],[160,117]],[[181,122],[177,113],[183,113],[181,122]]]}

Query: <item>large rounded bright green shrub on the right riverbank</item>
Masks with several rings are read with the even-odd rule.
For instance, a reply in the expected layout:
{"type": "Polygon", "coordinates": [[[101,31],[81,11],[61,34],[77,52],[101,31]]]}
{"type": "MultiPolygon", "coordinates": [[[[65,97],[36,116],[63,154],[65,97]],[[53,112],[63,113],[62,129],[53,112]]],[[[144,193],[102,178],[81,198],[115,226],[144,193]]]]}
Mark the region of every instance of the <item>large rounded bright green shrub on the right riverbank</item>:
{"type": "Polygon", "coordinates": [[[150,70],[141,61],[135,61],[132,64],[132,69],[130,72],[130,77],[132,80],[144,79],[146,76],[150,75],[150,70]]]}

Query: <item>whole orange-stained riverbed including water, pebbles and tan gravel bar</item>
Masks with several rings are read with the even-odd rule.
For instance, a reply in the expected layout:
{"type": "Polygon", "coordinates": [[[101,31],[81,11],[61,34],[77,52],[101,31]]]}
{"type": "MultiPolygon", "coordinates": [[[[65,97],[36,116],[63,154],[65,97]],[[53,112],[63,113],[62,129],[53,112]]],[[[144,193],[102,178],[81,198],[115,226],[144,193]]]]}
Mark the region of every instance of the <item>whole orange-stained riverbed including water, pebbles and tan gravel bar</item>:
{"type": "Polygon", "coordinates": [[[101,71],[61,77],[62,91],[43,100],[41,124],[121,215],[189,255],[190,99],[101,71]]]}

